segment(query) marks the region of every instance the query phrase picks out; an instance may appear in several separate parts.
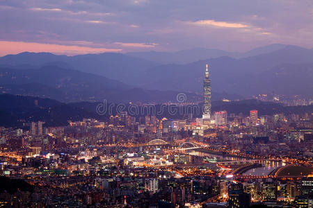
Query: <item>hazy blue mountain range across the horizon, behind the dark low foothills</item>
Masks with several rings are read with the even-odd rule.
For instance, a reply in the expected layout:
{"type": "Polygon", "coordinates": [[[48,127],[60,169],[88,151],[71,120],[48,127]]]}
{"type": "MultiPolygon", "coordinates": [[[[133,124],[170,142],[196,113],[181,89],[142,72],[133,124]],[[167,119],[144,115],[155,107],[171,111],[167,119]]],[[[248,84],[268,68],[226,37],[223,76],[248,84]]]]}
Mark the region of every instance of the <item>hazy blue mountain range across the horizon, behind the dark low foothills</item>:
{"type": "Polygon", "coordinates": [[[255,94],[313,97],[313,49],[272,44],[246,51],[191,49],[175,53],[54,55],[0,58],[0,92],[63,102],[163,103],[184,92],[202,100],[205,64],[215,100],[255,94]]]}

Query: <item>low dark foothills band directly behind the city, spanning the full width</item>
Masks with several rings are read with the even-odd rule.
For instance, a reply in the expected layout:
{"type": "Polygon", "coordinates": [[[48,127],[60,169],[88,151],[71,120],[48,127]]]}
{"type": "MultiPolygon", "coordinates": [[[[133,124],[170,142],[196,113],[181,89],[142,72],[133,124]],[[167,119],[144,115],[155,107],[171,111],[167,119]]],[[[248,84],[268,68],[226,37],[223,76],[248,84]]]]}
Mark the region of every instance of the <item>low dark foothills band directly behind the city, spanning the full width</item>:
{"type": "MultiPolygon", "coordinates": [[[[67,121],[81,121],[83,118],[95,118],[101,121],[107,121],[110,110],[115,114],[117,108],[119,111],[129,110],[129,103],[106,103],[106,111],[103,115],[97,114],[97,105],[100,102],[79,102],[79,103],[60,103],[49,98],[36,98],[31,96],[15,96],[11,94],[0,94],[0,126],[15,127],[15,128],[29,128],[26,124],[31,121],[45,121],[46,126],[60,126],[67,125],[67,121]],[[112,105],[111,105],[112,104],[112,105]],[[122,105],[124,108],[118,107],[122,105]]],[[[104,104],[102,102],[102,104],[104,104]]],[[[104,106],[104,105],[103,105],[104,106]]],[[[144,116],[147,111],[141,109],[143,105],[138,105],[138,114],[129,112],[131,116],[144,116]],[[141,113],[143,112],[143,114],[141,113]]],[[[155,114],[161,119],[167,117],[168,119],[186,119],[186,106],[177,105],[176,113],[169,113],[170,105],[154,105],[155,114]],[[182,111],[179,110],[182,107],[182,111]],[[183,112],[183,113],[182,113],[183,112]]],[[[199,111],[192,112],[194,117],[202,115],[202,103],[199,105],[199,111]]],[[[175,107],[171,107],[171,112],[175,112],[175,107]]],[[[310,106],[296,106],[284,107],[278,103],[261,102],[255,100],[243,100],[234,102],[212,102],[212,112],[227,110],[228,113],[248,115],[250,110],[259,110],[259,115],[272,115],[283,112],[285,114],[304,112],[313,112],[313,105],[310,106]]],[[[134,110],[134,109],[133,109],[134,110]]],[[[190,109],[189,109],[190,110],[190,109]]],[[[103,110],[104,112],[104,110],[103,110]]],[[[153,111],[151,111],[153,112],[153,111]]],[[[190,112],[188,112],[190,113],[190,112]]]]}

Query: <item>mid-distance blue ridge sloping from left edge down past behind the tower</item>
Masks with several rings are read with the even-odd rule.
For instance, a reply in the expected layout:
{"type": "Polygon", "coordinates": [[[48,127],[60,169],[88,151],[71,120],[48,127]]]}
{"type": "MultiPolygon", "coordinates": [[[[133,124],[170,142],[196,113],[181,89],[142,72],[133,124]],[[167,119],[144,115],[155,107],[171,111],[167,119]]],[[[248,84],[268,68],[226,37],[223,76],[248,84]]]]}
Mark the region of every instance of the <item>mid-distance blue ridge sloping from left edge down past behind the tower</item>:
{"type": "MultiPolygon", "coordinates": [[[[182,91],[141,89],[92,73],[56,66],[39,69],[8,69],[0,67],[0,94],[38,96],[65,103],[79,101],[110,101],[115,103],[176,102],[182,91]]],[[[187,102],[202,101],[202,93],[186,94],[187,102]]],[[[214,100],[239,99],[241,96],[212,93],[214,100]]]]}

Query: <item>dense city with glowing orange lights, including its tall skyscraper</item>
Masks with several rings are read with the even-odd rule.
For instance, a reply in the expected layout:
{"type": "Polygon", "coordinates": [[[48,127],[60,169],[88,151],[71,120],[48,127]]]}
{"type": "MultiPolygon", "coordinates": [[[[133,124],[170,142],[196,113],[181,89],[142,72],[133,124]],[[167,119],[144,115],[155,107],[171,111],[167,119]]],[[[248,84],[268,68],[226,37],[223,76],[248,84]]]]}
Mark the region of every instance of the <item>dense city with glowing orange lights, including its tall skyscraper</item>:
{"type": "Polygon", "coordinates": [[[211,112],[208,65],[203,87],[202,118],[1,128],[1,207],[312,207],[312,113],[211,112]]]}

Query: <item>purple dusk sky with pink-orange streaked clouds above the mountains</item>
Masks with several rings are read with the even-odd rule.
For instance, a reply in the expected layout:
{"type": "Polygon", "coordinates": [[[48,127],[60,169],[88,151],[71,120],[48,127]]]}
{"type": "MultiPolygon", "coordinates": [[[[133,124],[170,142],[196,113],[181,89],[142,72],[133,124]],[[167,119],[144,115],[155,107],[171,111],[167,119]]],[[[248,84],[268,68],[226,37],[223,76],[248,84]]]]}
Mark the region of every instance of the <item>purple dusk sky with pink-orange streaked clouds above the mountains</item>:
{"type": "Polygon", "coordinates": [[[0,0],[0,55],[313,47],[312,0],[0,0]]]}

